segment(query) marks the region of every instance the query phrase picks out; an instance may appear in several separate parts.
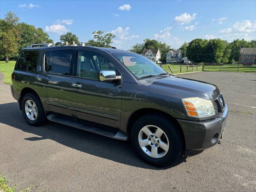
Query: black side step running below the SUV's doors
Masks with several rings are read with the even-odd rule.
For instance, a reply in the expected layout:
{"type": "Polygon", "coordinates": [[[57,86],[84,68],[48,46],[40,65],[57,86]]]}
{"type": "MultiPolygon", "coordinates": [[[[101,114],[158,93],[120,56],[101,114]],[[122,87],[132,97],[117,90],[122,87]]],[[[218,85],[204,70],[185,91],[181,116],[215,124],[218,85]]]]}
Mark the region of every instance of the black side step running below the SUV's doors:
{"type": "Polygon", "coordinates": [[[64,115],[56,115],[56,114],[49,114],[47,119],[53,122],[61,123],[67,126],[75,127],[78,129],[82,129],[85,131],[89,131],[92,133],[100,134],[106,137],[110,137],[113,139],[118,140],[128,140],[128,136],[121,132],[120,130],[104,125],[99,125],[93,122],[88,122],[85,120],[64,116],[64,115]]]}

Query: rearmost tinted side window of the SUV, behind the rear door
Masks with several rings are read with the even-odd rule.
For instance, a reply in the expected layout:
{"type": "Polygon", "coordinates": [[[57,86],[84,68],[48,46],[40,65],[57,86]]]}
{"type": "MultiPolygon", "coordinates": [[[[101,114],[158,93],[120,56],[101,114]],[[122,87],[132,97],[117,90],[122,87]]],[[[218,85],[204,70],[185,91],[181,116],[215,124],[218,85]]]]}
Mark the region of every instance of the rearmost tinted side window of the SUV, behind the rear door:
{"type": "Polygon", "coordinates": [[[25,71],[36,71],[38,51],[24,51],[17,60],[17,69],[25,71]]]}

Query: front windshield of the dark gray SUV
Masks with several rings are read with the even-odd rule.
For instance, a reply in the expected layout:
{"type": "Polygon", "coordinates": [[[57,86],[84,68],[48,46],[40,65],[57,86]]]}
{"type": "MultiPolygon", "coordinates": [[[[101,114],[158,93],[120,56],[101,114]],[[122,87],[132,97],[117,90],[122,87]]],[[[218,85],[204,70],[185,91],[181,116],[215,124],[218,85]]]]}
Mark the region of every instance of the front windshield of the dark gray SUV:
{"type": "Polygon", "coordinates": [[[168,74],[154,62],[138,54],[113,53],[113,56],[122,62],[137,78],[168,74]]]}

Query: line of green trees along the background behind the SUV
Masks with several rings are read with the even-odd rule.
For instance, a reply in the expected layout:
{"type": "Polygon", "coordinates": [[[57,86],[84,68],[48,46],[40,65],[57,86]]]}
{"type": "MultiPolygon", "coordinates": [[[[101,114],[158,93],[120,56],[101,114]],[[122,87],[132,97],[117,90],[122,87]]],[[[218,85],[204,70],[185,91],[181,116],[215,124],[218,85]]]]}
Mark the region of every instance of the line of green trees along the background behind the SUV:
{"type": "MultiPolygon", "coordinates": [[[[33,25],[19,22],[18,16],[14,12],[7,12],[4,19],[0,19],[0,60],[15,60],[19,52],[30,44],[53,43],[48,33],[42,28],[36,28],[33,25]]],[[[88,40],[88,43],[110,45],[112,39],[116,36],[103,31],[92,32],[94,38],[88,40]]],[[[63,46],[68,44],[79,43],[79,38],[67,32],[60,36],[60,42],[55,45],[63,46]]],[[[214,62],[214,63],[230,63],[239,60],[240,48],[256,47],[256,40],[246,41],[244,39],[236,39],[229,43],[221,39],[194,39],[191,42],[185,42],[180,46],[182,57],[188,57],[192,62],[214,62]]],[[[166,62],[166,54],[169,50],[174,50],[166,43],[150,40],[146,38],[143,43],[137,43],[132,46],[130,51],[141,54],[144,49],[158,49],[162,56],[160,61],[166,62]]]]}

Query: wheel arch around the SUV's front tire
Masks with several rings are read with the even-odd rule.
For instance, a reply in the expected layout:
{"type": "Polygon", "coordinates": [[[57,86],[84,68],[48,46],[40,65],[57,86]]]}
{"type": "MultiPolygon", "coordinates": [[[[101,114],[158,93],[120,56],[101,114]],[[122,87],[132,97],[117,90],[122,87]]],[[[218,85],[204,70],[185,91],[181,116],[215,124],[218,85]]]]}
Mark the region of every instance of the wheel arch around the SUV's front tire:
{"type": "Polygon", "coordinates": [[[134,122],[138,118],[145,116],[147,114],[157,114],[157,115],[164,116],[165,118],[170,119],[172,121],[172,123],[174,123],[176,125],[176,127],[178,128],[180,135],[182,137],[182,144],[183,144],[184,150],[186,149],[186,140],[185,140],[184,132],[183,132],[182,128],[180,127],[180,124],[178,123],[178,121],[174,117],[172,117],[170,114],[163,112],[161,110],[153,109],[153,108],[143,108],[143,109],[139,109],[132,113],[132,115],[130,116],[130,118],[127,122],[127,126],[126,126],[126,133],[128,136],[130,136],[130,132],[132,130],[132,125],[134,124],[134,122]]]}

